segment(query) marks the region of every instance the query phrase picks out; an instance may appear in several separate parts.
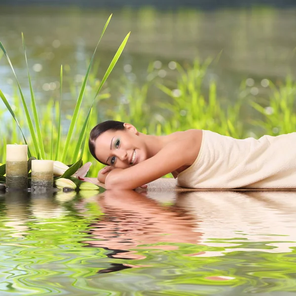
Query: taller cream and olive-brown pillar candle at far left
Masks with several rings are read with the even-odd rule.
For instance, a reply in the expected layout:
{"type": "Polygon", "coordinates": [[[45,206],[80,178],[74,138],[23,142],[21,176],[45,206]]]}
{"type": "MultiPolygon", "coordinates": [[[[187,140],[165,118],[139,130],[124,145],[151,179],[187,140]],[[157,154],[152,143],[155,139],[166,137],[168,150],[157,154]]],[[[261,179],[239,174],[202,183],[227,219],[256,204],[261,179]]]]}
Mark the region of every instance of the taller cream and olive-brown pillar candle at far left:
{"type": "Polygon", "coordinates": [[[28,188],[27,145],[6,145],[6,187],[28,188]]]}

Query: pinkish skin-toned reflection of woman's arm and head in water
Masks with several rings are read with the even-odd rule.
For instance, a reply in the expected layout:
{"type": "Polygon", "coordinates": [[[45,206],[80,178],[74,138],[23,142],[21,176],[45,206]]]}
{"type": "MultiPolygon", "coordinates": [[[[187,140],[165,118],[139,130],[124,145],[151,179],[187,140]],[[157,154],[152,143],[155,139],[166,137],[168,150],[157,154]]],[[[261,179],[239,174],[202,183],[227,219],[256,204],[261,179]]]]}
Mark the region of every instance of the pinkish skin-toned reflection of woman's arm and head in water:
{"type": "MultiPolygon", "coordinates": [[[[133,190],[107,190],[102,193],[98,203],[105,219],[91,225],[91,235],[96,240],[86,243],[111,250],[129,250],[158,242],[198,242],[201,233],[193,231],[190,215],[177,207],[168,210],[144,194],[133,190]]],[[[175,247],[159,245],[153,248],[170,250],[175,247]]],[[[120,253],[122,257],[124,254],[120,253]]],[[[137,257],[129,253],[128,258],[137,257]]]]}

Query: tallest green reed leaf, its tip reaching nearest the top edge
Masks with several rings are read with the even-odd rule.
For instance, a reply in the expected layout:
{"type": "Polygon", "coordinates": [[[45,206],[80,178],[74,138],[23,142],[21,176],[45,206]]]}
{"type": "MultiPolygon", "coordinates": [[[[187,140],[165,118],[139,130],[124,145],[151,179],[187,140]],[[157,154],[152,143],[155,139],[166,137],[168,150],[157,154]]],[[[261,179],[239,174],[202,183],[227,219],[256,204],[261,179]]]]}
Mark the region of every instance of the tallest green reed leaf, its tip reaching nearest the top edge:
{"type": "Polygon", "coordinates": [[[75,123],[76,123],[76,120],[77,120],[77,117],[78,117],[78,112],[79,112],[79,109],[80,109],[80,106],[81,106],[81,102],[82,102],[82,98],[83,98],[83,94],[84,94],[84,91],[85,91],[85,86],[86,86],[86,82],[87,82],[87,79],[88,79],[88,76],[89,76],[89,72],[90,72],[90,69],[91,69],[91,66],[92,66],[92,63],[93,63],[93,60],[94,60],[94,56],[95,56],[95,53],[97,51],[97,48],[99,46],[99,43],[105,33],[105,30],[110,22],[110,19],[111,19],[111,16],[112,14],[110,15],[109,19],[107,20],[106,24],[105,24],[105,27],[102,31],[102,34],[101,34],[101,37],[100,37],[100,40],[95,48],[95,51],[91,57],[91,60],[90,60],[90,63],[89,63],[89,66],[88,66],[88,69],[87,69],[87,72],[85,74],[85,77],[84,77],[84,80],[83,80],[83,83],[82,83],[82,86],[81,86],[81,90],[80,90],[80,93],[79,93],[79,96],[78,96],[78,99],[77,99],[77,102],[76,102],[76,105],[75,105],[75,109],[74,109],[74,113],[73,113],[73,116],[72,116],[72,120],[71,120],[71,123],[70,123],[70,127],[69,127],[69,131],[68,131],[68,134],[67,134],[67,138],[66,138],[66,143],[65,143],[65,147],[64,147],[64,150],[63,150],[63,154],[62,154],[62,162],[65,162],[65,159],[66,159],[66,155],[68,153],[68,148],[69,148],[69,145],[70,145],[70,140],[71,140],[71,137],[73,135],[73,131],[74,131],[74,127],[75,127],[75,123]]]}

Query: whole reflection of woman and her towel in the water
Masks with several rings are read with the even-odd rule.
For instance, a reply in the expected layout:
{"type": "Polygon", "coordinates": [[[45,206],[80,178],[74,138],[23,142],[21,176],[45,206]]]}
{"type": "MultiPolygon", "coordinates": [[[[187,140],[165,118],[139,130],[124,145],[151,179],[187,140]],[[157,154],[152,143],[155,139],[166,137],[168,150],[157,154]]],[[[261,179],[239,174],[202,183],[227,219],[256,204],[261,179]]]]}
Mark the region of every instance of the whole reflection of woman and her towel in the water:
{"type": "Polygon", "coordinates": [[[176,248],[165,242],[220,247],[190,255],[206,257],[238,249],[292,252],[296,247],[296,192],[107,190],[95,199],[105,218],[90,225],[95,240],[85,242],[115,250],[113,258],[140,259],[135,248],[160,242],[153,248],[176,248]],[[250,247],[250,242],[258,244],[250,247]]]}

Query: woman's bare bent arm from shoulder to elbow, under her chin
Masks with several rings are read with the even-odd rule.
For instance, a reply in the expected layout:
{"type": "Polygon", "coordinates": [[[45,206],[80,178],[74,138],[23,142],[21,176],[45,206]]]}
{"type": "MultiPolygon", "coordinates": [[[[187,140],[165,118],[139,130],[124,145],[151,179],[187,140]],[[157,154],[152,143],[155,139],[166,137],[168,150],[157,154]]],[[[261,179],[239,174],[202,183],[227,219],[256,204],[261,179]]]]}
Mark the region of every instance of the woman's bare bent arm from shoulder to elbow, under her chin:
{"type": "Polygon", "coordinates": [[[162,148],[156,155],[127,169],[113,169],[109,172],[105,184],[107,189],[134,189],[152,182],[184,165],[191,165],[199,152],[199,136],[189,132],[186,137],[173,141],[162,148]]]}

